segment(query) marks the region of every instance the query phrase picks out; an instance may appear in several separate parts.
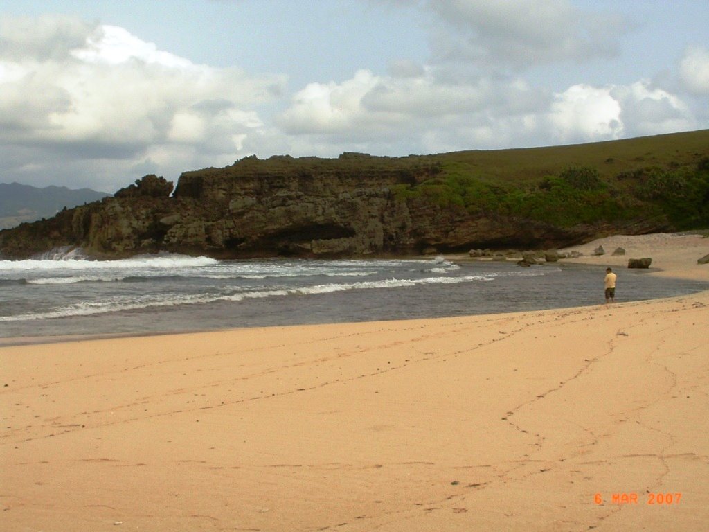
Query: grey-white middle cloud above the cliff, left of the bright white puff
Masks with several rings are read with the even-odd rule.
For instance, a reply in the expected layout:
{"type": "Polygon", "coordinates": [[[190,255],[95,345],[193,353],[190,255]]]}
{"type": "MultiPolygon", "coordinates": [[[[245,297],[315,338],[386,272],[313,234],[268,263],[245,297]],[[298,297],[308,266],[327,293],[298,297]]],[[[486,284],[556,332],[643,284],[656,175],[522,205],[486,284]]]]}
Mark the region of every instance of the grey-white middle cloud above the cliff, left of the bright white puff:
{"type": "Polygon", "coordinates": [[[434,69],[418,76],[383,77],[360,70],[341,83],[308,84],[280,118],[291,135],[349,132],[352,140],[381,132],[447,127],[471,117],[529,113],[545,103],[523,79],[478,77],[469,82],[439,79],[434,69]]]}

